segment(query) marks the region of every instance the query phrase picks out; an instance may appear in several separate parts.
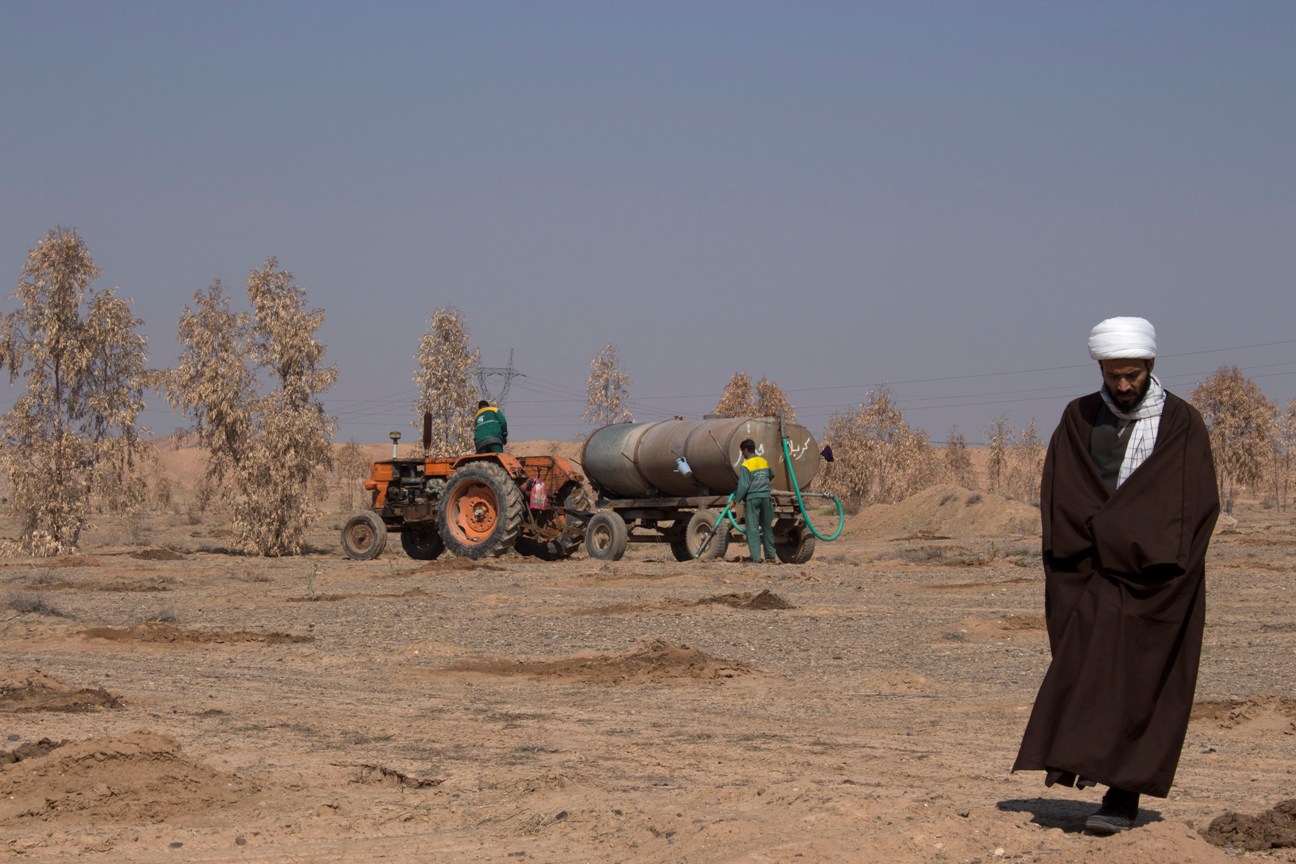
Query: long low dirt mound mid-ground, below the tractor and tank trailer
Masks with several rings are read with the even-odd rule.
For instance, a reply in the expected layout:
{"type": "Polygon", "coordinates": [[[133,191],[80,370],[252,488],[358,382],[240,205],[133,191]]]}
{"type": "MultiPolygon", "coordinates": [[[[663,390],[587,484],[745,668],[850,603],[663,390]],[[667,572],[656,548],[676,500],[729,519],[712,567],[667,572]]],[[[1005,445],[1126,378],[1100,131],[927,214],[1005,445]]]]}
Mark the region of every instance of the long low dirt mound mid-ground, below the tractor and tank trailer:
{"type": "Polygon", "coordinates": [[[577,654],[553,661],[461,661],[448,667],[486,675],[529,675],[542,680],[579,680],[590,684],[669,684],[723,681],[750,675],[752,667],[723,661],[686,645],[660,639],[639,642],[614,654],[577,654]]]}

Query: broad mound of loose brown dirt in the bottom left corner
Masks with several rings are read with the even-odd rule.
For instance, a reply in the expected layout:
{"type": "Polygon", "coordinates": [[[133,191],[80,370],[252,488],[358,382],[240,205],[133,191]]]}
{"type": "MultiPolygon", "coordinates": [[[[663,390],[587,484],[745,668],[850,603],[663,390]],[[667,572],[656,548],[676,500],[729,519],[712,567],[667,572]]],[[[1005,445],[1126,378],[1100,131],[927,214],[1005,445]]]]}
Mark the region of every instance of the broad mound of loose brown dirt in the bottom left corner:
{"type": "Polygon", "coordinates": [[[137,729],[69,744],[0,769],[0,825],[25,820],[163,823],[238,801],[241,786],[180,755],[174,738],[137,729]]]}

